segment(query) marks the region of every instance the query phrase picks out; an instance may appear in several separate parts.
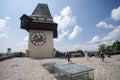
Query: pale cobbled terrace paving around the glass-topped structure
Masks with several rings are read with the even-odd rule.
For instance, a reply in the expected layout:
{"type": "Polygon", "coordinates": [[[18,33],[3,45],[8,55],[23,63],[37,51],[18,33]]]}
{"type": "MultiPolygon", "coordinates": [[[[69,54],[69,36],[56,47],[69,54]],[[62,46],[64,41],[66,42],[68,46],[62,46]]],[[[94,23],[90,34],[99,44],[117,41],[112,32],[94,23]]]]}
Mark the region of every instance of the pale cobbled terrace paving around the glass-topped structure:
{"type": "MultiPolygon", "coordinates": [[[[85,58],[72,58],[74,63],[93,67],[95,80],[120,80],[120,55],[105,58],[92,57],[90,61],[85,58]]],[[[48,62],[67,63],[65,59],[31,59],[13,58],[0,62],[0,80],[56,80],[41,64],[48,62]]]]}

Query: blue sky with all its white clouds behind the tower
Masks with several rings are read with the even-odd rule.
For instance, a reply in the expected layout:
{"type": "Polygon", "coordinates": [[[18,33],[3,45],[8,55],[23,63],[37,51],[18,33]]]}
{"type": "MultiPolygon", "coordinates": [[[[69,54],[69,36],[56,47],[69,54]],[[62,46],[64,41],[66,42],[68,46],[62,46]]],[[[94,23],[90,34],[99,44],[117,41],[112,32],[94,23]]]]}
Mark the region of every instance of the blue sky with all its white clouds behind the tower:
{"type": "Polygon", "coordinates": [[[58,23],[56,50],[97,51],[120,41],[120,0],[0,0],[0,52],[28,49],[29,33],[20,28],[20,17],[31,15],[38,3],[48,4],[58,23]]]}

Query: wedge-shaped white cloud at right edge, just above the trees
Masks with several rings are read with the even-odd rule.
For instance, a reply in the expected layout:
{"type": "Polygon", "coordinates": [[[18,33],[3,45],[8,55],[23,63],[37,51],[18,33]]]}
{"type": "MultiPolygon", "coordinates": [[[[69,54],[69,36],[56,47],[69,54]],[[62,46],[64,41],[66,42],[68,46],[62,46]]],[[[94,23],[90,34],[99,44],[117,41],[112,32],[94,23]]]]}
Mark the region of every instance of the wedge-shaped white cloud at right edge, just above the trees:
{"type": "Polygon", "coordinates": [[[108,35],[102,39],[102,41],[112,41],[112,40],[120,40],[120,26],[115,28],[113,31],[109,32],[108,35]]]}

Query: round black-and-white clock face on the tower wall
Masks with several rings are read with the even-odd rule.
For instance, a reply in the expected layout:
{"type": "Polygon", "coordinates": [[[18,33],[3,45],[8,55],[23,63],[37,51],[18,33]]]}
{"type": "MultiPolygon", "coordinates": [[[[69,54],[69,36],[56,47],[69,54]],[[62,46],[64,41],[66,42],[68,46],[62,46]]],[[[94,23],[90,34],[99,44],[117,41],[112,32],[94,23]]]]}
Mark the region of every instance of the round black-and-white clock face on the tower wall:
{"type": "Polygon", "coordinates": [[[30,41],[36,46],[41,46],[46,42],[46,36],[43,32],[33,32],[30,35],[30,41]]]}

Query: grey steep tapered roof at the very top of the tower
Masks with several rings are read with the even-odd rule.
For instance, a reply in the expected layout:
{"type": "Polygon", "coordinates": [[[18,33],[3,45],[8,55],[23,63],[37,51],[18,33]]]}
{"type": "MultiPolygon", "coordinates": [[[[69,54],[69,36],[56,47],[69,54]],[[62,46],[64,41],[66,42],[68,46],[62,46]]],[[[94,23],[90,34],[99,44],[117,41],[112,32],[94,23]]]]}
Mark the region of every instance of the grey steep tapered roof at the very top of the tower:
{"type": "Polygon", "coordinates": [[[48,5],[47,4],[41,4],[41,3],[39,3],[37,5],[37,7],[33,11],[32,15],[51,17],[48,5]]]}

